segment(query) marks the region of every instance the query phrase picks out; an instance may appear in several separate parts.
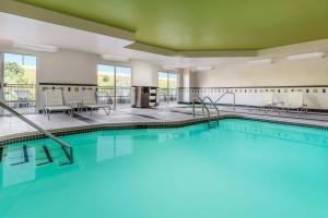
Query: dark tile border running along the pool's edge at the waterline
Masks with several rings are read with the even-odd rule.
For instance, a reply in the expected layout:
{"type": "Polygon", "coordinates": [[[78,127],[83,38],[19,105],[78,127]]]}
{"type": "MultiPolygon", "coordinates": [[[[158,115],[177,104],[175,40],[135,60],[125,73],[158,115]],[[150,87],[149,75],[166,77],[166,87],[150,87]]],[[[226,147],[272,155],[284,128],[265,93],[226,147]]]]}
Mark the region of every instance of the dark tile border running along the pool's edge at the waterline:
{"type": "MultiPolygon", "coordinates": [[[[224,119],[242,119],[242,120],[254,120],[254,121],[261,121],[261,122],[270,122],[270,123],[278,123],[278,124],[289,124],[289,125],[297,125],[297,126],[306,126],[306,128],[315,128],[321,130],[328,130],[328,125],[319,125],[319,124],[309,124],[309,123],[298,123],[292,121],[282,121],[282,120],[271,120],[265,118],[250,118],[239,114],[229,114],[229,116],[221,116],[221,117],[213,117],[211,120],[224,120],[224,119]]],[[[87,132],[95,132],[95,131],[110,131],[110,130],[138,130],[138,129],[172,129],[172,128],[184,128],[188,125],[206,123],[208,122],[207,119],[195,119],[195,120],[185,120],[185,121],[177,121],[177,122],[161,122],[161,123],[120,123],[120,124],[102,124],[102,125],[87,125],[87,126],[77,126],[70,128],[67,130],[54,130],[51,131],[52,134],[56,136],[63,136],[63,135],[72,135],[72,134],[80,134],[80,133],[87,133],[87,132]]],[[[0,147],[4,147],[7,145],[20,142],[27,142],[33,140],[40,140],[46,138],[45,135],[40,133],[31,133],[24,136],[13,136],[5,140],[0,140],[0,147]]]]}

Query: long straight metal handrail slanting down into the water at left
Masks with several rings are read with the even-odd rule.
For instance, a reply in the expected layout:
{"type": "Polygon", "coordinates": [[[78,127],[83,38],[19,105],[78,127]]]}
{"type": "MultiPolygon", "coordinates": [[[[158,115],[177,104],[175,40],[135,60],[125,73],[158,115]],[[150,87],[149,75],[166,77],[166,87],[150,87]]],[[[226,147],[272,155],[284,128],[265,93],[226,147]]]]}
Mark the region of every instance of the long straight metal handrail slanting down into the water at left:
{"type": "Polygon", "coordinates": [[[74,161],[74,156],[73,156],[73,148],[71,146],[69,146],[67,143],[62,142],[61,140],[59,140],[58,137],[56,137],[52,133],[50,133],[49,131],[40,128],[39,125],[37,125],[36,123],[32,122],[31,120],[28,120],[27,118],[25,118],[24,116],[22,116],[21,113],[19,113],[17,111],[15,111],[14,109],[12,109],[11,107],[9,107],[5,102],[3,102],[2,100],[0,100],[0,107],[3,108],[4,110],[7,110],[8,112],[10,112],[11,114],[13,114],[14,117],[19,118],[20,120],[24,121],[25,123],[27,123],[28,125],[33,126],[34,129],[38,130],[39,132],[42,132],[43,134],[45,134],[46,136],[48,136],[49,138],[54,140],[55,142],[57,142],[58,144],[60,144],[65,149],[69,149],[70,152],[70,164],[73,164],[74,161]]]}

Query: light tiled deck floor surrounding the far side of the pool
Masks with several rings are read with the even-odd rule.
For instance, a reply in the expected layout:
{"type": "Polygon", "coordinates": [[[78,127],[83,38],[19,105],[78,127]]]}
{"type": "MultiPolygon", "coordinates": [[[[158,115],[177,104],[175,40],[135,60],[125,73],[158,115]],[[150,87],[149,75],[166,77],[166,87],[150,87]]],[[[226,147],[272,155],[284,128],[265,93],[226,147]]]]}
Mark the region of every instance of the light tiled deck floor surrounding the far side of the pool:
{"type": "MultiPolygon", "coordinates": [[[[263,112],[258,109],[249,108],[237,108],[236,110],[233,110],[227,107],[221,107],[220,109],[220,116],[222,117],[242,117],[246,119],[296,123],[300,125],[328,129],[328,114],[325,113],[277,113],[263,112]]],[[[199,109],[198,111],[200,112],[199,109]]],[[[162,124],[186,124],[206,120],[201,114],[194,118],[191,108],[184,106],[159,107],[157,109],[126,108],[112,111],[109,116],[106,116],[103,111],[93,112],[92,116],[90,116],[90,112],[79,112],[73,117],[63,113],[52,113],[49,121],[43,114],[26,114],[26,118],[46,130],[56,132],[79,129],[79,126],[83,126],[84,129],[87,129],[89,126],[116,126],[121,124],[155,126],[162,124]]],[[[35,133],[35,130],[17,118],[9,116],[0,117],[0,141],[32,133],[35,133]]]]}

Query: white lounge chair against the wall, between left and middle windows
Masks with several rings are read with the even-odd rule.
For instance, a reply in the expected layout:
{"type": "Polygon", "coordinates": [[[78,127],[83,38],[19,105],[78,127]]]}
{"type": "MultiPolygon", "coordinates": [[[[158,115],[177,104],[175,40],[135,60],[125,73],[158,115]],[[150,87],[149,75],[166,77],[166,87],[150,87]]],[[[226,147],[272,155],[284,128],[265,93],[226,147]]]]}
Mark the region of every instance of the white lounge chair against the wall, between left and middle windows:
{"type": "Polygon", "coordinates": [[[63,97],[61,89],[47,89],[45,90],[45,107],[44,114],[47,114],[48,120],[50,119],[50,113],[52,111],[63,111],[72,116],[72,108],[63,104],[63,97]]]}

